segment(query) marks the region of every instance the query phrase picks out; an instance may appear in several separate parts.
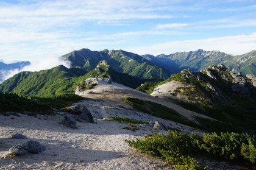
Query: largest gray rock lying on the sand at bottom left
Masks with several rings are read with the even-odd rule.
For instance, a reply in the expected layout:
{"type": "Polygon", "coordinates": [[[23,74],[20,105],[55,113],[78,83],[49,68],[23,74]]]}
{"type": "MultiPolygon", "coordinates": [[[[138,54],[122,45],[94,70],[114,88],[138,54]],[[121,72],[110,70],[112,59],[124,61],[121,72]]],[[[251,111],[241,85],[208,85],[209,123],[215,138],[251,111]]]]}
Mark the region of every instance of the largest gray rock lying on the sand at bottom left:
{"type": "Polygon", "coordinates": [[[46,150],[46,147],[38,141],[27,141],[24,144],[18,144],[9,149],[11,155],[24,155],[27,153],[39,154],[46,150]]]}

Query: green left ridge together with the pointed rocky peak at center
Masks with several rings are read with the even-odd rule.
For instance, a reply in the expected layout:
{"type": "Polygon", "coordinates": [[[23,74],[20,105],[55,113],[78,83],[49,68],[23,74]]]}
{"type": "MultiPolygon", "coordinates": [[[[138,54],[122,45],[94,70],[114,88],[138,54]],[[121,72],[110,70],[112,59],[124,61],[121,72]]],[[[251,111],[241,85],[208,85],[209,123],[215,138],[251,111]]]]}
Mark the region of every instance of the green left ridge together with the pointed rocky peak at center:
{"type": "Polygon", "coordinates": [[[88,77],[109,77],[113,82],[131,88],[136,88],[141,83],[141,80],[128,74],[118,73],[107,62],[101,61],[89,73],[84,69],[68,69],[62,65],[39,72],[21,72],[2,82],[0,91],[37,97],[74,94],[80,82],[88,77]]]}

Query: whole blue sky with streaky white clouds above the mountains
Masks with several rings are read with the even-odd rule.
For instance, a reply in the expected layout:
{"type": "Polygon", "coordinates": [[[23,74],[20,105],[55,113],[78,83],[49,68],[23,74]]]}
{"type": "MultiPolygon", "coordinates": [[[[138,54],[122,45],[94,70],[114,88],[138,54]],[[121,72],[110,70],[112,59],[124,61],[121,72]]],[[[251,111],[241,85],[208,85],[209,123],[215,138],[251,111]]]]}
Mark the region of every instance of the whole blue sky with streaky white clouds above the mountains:
{"type": "Polygon", "coordinates": [[[0,1],[0,60],[81,48],[244,54],[256,49],[256,1],[0,1]]]}

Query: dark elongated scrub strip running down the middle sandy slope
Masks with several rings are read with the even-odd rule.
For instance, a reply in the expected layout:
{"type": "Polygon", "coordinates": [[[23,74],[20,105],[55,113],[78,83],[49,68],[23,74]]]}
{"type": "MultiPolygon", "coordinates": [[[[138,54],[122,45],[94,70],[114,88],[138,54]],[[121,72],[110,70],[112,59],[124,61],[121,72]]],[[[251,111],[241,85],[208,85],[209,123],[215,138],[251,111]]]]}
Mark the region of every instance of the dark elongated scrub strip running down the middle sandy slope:
{"type": "Polygon", "coordinates": [[[195,123],[180,115],[172,108],[164,105],[149,101],[141,101],[140,99],[130,97],[126,97],[124,101],[127,102],[127,104],[132,105],[132,107],[136,108],[137,110],[148,113],[149,115],[157,116],[158,118],[162,119],[169,119],[187,126],[197,127],[195,123]]]}

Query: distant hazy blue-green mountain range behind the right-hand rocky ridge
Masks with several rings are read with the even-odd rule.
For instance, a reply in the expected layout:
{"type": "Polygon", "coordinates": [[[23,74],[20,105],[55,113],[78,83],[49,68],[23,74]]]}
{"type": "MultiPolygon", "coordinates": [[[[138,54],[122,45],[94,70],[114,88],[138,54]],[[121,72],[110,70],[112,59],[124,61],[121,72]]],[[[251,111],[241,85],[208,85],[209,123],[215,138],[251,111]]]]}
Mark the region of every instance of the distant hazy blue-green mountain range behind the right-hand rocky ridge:
{"type": "Polygon", "coordinates": [[[190,68],[199,71],[208,65],[218,65],[224,63],[228,68],[235,69],[244,75],[247,73],[256,75],[256,51],[251,51],[243,55],[229,55],[219,51],[204,51],[199,49],[190,52],[176,52],[174,54],[142,55],[162,68],[168,69],[171,73],[179,73],[182,69],[190,68]]]}

